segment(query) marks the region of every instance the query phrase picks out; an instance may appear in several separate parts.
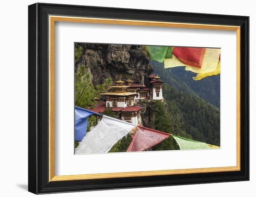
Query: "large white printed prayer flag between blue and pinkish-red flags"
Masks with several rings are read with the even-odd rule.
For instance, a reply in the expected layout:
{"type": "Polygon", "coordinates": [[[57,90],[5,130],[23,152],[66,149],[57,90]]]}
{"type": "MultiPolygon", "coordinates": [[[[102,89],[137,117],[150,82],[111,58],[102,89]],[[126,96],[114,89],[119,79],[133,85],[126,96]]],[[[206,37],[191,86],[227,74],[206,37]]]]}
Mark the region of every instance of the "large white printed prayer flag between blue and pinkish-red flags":
{"type": "Polygon", "coordinates": [[[75,153],[108,153],[134,127],[134,124],[103,115],[101,121],[79,143],[75,153]]]}

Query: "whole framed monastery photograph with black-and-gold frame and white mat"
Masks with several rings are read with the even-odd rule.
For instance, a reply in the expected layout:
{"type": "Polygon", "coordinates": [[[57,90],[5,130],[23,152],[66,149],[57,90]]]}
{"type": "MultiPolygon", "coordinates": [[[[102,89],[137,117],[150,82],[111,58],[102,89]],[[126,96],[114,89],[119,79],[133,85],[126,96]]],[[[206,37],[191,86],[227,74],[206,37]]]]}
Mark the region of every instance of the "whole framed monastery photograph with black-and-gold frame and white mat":
{"type": "Polygon", "coordinates": [[[28,191],[249,180],[249,17],[28,6],[28,191]]]}

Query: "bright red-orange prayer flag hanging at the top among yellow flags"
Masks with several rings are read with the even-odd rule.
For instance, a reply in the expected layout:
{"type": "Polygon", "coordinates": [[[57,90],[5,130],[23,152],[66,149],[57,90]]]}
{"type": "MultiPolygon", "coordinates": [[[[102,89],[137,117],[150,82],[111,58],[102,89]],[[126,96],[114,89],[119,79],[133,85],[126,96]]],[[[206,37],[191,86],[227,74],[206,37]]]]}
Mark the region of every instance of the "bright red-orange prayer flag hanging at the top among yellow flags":
{"type": "Polygon", "coordinates": [[[189,66],[201,68],[205,48],[173,47],[173,54],[183,63],[189,66]]]}

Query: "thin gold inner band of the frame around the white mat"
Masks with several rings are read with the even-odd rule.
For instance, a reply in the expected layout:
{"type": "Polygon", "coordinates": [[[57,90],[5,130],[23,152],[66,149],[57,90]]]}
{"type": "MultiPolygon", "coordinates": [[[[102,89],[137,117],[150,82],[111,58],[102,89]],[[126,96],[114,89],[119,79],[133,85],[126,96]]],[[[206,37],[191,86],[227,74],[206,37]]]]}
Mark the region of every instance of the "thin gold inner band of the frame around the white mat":
{"type": "Polygon", "coordinates": [[[70,181],[84,179],[101,179],[101,178],[123,178],[139,176],[158,176],[173,174],[191,174],[203,172],[230,172],[240,170],[240,26],[229,25],[205,25],[190,23],[172,23],[172,22],[155,22],[142,20],[123,20],[123,19],[95,19],[82,17],[51,16],[49,15],[49,181],[70,181]],[[211,29],[211,30],[229,30],[236,31],[236,166],[216,167],[216,168],[198,168],[182,170],[162,170],[162,171],[143,171],[143,172],[119,172],[119,173],[101,173],[101,174],[82,174],[54,176],[54,24],[55,22],[73,22],[73,23],[98,23],[111,25],[141,25],[157,27],[175,27],[175,28],[192,28],[192,29],[211,29]]]}

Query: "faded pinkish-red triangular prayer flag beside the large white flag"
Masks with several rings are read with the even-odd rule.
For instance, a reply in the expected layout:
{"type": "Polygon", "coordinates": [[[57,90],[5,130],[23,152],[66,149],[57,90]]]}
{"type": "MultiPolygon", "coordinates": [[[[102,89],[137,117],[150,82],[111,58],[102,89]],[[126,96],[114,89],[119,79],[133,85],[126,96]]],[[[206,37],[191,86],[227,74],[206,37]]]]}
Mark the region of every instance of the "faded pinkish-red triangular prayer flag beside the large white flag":
{"type": "Polygon", "coordinates": [[[137,131],[132,135],[132,141],[128,146],[127,152],[144,151],[166,140],[170,134],[150,129],[147,127],[137,126],[137,131]]]}

